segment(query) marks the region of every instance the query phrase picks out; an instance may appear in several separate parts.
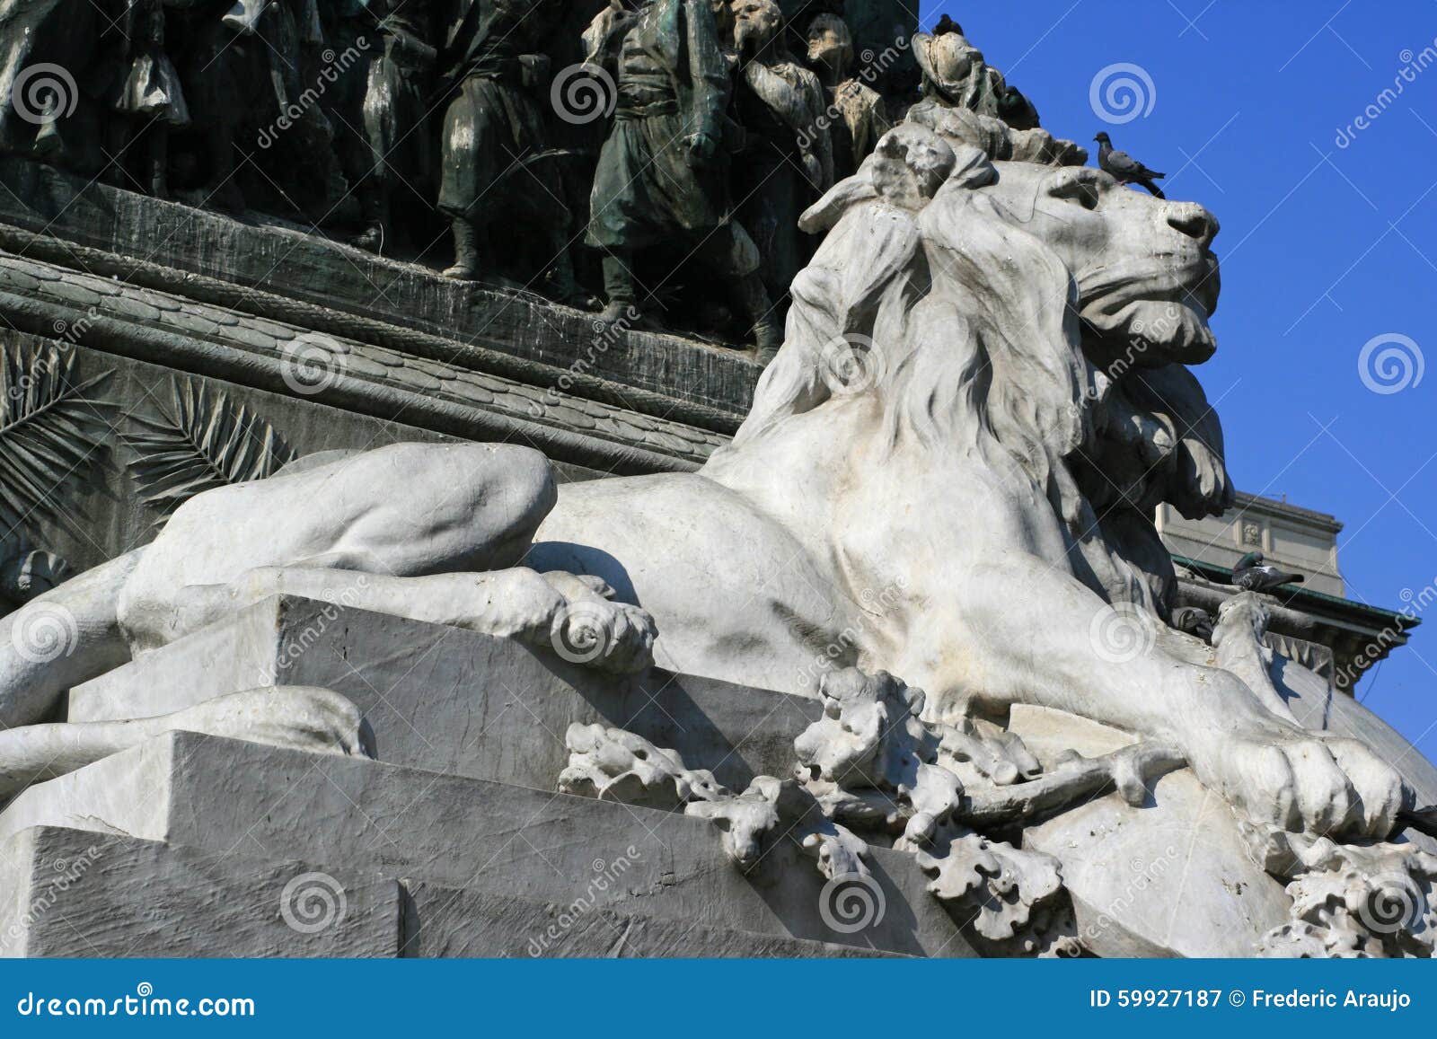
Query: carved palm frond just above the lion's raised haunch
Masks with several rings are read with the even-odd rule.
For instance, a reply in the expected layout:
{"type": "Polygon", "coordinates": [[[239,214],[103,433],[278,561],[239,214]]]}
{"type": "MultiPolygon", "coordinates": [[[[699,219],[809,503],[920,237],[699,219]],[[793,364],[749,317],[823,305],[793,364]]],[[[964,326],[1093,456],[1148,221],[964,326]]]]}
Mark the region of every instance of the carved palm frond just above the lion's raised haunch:
{"type": "Polygon", "coordinates": [[[263,480],[295,460],[273,425],[205,382],[175,379],[170,410],[158,411],[135,415],[142,431],[125,434],[135,453],[129,471],[160,513],[157,526],[201,491],[263,480]]]}

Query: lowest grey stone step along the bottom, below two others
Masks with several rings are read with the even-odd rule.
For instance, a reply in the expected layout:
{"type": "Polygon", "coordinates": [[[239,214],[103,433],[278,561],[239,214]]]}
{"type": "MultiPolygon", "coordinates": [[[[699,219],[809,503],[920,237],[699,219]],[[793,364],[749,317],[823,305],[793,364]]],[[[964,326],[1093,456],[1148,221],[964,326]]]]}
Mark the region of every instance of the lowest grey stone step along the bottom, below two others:
{"type": "Polygon", "coordinates": [[[52,826],[6,842],[0,885],[0,957],[894,956],[52,826]]]}

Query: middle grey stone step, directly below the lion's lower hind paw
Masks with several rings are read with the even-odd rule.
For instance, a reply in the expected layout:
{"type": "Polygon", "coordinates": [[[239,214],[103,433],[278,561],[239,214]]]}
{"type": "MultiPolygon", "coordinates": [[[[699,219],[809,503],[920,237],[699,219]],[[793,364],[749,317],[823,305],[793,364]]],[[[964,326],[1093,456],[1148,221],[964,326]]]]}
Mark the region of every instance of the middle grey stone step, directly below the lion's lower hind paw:
{"type": "Polygon", "coordinates": [[[342,862],[358,874],[558,905],[596,890],[596,874],[622,861],[622,882],[595,894],[618,913],[971,956],[915,861],[894,851],[871,856],[881,918],[841,934],[825,923],[835,918],[833,892],[787,836],[770,841],[746,875],[713,825],[674,812],[191,733],[30,788],[0,813],[0,839],[37,825],[342,862]]]}

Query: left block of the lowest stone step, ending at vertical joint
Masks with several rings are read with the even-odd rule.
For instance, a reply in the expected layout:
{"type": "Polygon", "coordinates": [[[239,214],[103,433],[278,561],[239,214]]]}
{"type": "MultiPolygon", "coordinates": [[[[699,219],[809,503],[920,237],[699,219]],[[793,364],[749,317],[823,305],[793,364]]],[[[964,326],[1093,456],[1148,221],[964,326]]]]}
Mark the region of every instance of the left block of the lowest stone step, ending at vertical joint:
{"type": "Polygon", "coordinates": [[[53,826],[4,841],[0,891],[6,957],[392,957],[404,918],[392,879],[53,826]]]}

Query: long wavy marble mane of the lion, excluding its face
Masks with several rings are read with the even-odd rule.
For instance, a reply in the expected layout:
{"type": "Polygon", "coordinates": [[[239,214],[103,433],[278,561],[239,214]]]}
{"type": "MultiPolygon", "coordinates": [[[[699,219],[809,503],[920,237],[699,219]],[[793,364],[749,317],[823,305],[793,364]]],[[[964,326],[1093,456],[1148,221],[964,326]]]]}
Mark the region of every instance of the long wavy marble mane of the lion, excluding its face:
{"type": "Polygon", "coordinates": [[[1165,614],[1174,573],[1152,509],[1230,503],[1216,417],[1181,365],[1112,378],[1089,362],[1072,272],[1023,214],[976,190],[996,175],[987,157],[956,152],[954,172],[917,213],[865,184],[846,188],[832,234],[861,237],[868,254],[842,267],[823,267],[821,254],[799,276],[785,348],[734,448],[762,450],[789,420],[867,394],[885,451],[921,447],[935,474],[946,453],[999,474],[1016,467],[1063,525],[1079,579],[1165,614]],[[855,384],[833,371],[835,354],[858,365],[855,384]],[[1141,463],[1128,484],[1108,476],[1124,458],[1141,463]]]}

